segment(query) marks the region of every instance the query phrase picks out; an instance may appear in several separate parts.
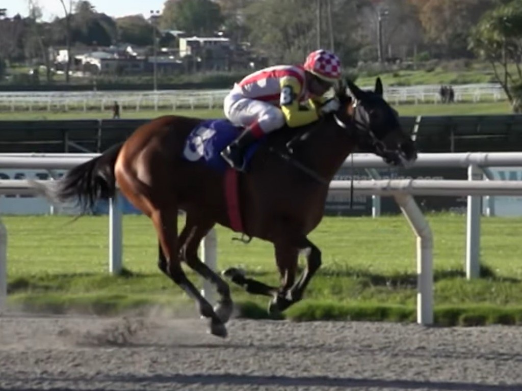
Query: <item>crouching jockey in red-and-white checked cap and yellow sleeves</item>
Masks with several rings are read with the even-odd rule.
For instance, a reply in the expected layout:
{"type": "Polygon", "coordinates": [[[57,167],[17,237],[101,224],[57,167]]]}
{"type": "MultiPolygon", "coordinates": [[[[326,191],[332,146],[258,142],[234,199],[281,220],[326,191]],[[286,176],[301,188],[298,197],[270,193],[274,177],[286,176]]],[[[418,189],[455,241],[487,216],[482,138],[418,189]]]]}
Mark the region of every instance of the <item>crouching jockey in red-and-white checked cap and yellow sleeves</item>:
{"type": "Polygon", "coordinates": [[[325,102],[323,95],[341,77],[339,58],[316,50],[304,65],[278,65],[246,76],[224,99],[224,114],[235,126],[245,129],[222,152],[232,168],[245,171],[244,152],[254,141],[283,127],[312,123],[319,115],[337,111],[338,102],[325,102]],[[303,110],[302,104],[310,109],[303,110]]]}

